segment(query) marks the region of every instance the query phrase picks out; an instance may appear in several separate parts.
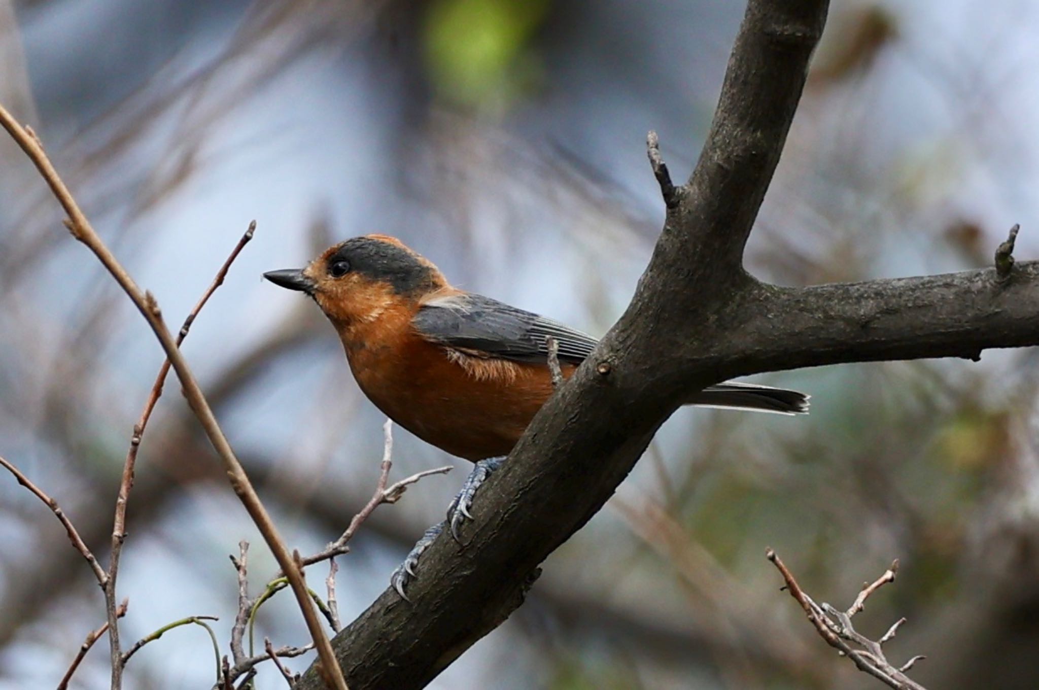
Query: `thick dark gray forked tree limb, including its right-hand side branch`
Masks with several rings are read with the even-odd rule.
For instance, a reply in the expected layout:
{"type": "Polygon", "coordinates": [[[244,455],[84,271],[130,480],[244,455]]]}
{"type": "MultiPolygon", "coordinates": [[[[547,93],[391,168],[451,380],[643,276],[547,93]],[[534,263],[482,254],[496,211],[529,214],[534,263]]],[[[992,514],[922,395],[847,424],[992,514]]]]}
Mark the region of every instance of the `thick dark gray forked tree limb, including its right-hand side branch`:
{"type": "MultiPolygon", "coordinates": [[[[1006,280],[990,269],[810,288],[743,270],[827,4],[750,0],[692,177],[672,186],[655,165],[667,217],[630,307],[481,488],[468,543],[442,535],[411,603],[388,589],[336,637],[351,690],[421,688],[505,620],[691,393],[766,371],[1039,343],[1036,264],[1006,280]]],[[[313,667],[299,684],[321,687],[313,667]]]]}

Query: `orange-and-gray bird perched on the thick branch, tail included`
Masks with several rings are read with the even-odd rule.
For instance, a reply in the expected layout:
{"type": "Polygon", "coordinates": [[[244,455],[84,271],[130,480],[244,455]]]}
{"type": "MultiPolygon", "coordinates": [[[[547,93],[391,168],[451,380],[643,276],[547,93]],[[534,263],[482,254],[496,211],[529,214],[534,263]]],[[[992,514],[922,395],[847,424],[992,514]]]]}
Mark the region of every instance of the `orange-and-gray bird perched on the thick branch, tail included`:
{"type": "MultiPolygon", "coordinates": [[[[317,303],[339,335],[357,386],[387,417],[476,463],[448,511],[456,539],[476,489],[555,390],[550,339],[564,378],[598,343],[559,321],[452,286],[431,261],[389,235],[350,238],[304,268],[264,277],[317,303]]],[[[808,397],[726,381],[691,395],[686,404],[798,415],[807,413],[808,397]]],[[[421,551],[441,528],[427,530],[394,574],[402,596],[421,551]]]]}

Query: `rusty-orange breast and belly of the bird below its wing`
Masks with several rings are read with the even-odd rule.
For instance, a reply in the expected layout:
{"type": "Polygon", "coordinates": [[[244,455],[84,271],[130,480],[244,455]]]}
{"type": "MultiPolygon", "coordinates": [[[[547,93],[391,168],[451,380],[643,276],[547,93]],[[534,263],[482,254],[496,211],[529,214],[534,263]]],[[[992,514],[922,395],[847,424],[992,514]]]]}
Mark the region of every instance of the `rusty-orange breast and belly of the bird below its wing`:
{"type": "MultiPolygon", "coordinates": [[[[552,393],[548,366],[449,350],[414,334],[409,315],[385,316],[341,334],[365,395],[394,422],[452,455],[474,461],[507,455],[552,393]]],[[[565,376],[574,370],[563,367],[565,376]]]]}

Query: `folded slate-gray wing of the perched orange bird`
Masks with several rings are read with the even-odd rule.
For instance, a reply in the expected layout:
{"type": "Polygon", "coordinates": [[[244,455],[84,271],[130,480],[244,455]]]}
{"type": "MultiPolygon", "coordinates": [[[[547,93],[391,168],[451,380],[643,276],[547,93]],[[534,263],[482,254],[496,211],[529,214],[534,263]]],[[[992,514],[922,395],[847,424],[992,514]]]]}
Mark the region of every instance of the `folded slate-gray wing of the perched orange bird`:
{"type": "Polygon", "coordinates": [[[544,364],[549,336],[559,344],[560,362],[570,364],[583,362],[598,343],[558,321],[475,294],[433,299],[411,323],[435,343],[514,362],[544,364]]]}

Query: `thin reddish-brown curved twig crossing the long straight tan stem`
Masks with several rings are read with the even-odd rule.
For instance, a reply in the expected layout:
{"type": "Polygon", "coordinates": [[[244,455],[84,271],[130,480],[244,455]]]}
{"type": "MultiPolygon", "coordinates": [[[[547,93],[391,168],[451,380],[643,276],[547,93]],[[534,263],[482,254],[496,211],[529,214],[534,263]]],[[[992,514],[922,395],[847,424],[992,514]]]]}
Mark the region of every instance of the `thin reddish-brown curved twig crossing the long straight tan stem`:
{"type": "MultiPolygon", "coordinates": [[[[216,292],[216,289],[223,285],[223,278],[228,275],[228,270],[231,268],[231,264],[235,262],[238,255],[241,254],[242,249],[249,240],[252,239],[254,233],[256,233],[257,221],[254,220],[249,223],[248,230],[242,235],[241,239],[238,240],[238,244],[232,249],[231,255],[220,266],[220,269],[216,272],[216,276],[213,282],[210,283],[209,288],[203,293],[202,297],[195,302],[195,306],[188,313],[187,318],[184,319],[184,324],[181,326],[180,331],[177,334],[177,347],[180,347],[187,338],[188,331],[191,329],[191,324],[194,323],[195,318],[197,318],[198,313],[202,312],[202,308],[206,306],[209,298],[216,292]]],[[[108,630],[110,638],[110,649],[112,664],[116,665],[122,663],[123,654],[119,648],[119,630],[118,625],[115,622],[118,618],[115,615],[115,583],[118,579],[119,572],[119,557],[123,554],[123,543],[126,541],[126,515],[127,515],[127,502],[130,499],[130,489],[133,488],[134,471],[137,463],[137,451],[140,448],[141,439],[144,435],[144,429],[148,427],[148,421],[152,418],[152,412],[155,409],[156,403],[162,396],[162,387],[166,382],[166,375],[169,373],[170,362],[169,357],[166,357],[165,362],[159,368],[159,373],[155,377],[155,383],[152,384],[152,392],[148,396],[148,400],[144,402],[144,408],[141,409],[140,418],[133,427],[133,435],[130,439],[130,448],[127,451],[126,460],[123,463],[123,478],[119,481],[119,493],[115,499],[115,516],[112,520],[112,546],[111,555],[108,560],[108,580],[105,584],[105,605],[108,610],[108,630]]],[[[237,663],[237,659],[235,660],[237,663]]],[[[117,672],[117,671],[113,671],[117,672]]]]}

